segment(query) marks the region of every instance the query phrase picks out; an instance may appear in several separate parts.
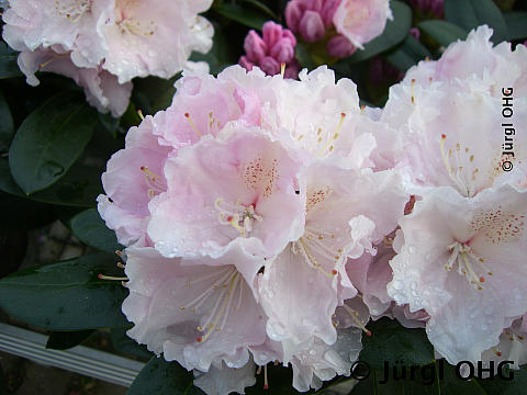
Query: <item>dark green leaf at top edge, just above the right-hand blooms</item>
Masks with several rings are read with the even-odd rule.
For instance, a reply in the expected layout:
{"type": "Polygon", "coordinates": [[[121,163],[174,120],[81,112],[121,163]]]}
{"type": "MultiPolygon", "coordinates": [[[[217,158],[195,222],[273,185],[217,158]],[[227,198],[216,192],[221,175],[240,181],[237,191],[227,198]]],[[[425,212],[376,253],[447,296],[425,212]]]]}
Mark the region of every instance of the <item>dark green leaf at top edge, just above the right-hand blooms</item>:
{"type": "Polygon", "coordinates": [[[445,0],[445,19],[467,32],[487,24],[494,30],[492,41],[495,44],[508,37],[502,11],[492,0],[445,0]]]}

